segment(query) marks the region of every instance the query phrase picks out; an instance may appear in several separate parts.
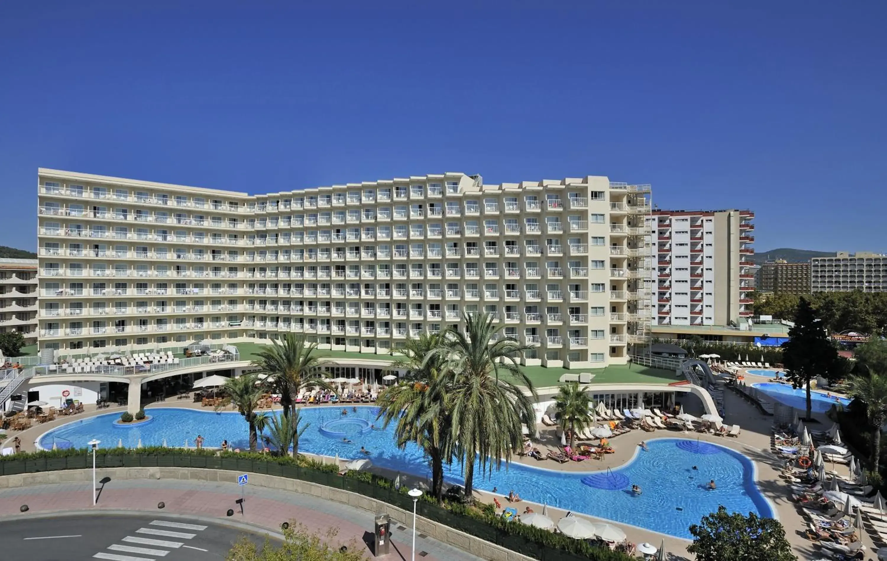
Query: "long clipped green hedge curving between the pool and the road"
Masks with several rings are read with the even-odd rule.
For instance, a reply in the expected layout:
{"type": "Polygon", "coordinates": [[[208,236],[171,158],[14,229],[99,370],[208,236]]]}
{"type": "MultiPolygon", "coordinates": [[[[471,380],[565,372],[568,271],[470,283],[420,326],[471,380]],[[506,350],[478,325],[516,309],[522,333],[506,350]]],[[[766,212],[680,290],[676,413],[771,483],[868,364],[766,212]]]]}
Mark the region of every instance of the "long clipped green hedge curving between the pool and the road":
{"type": "MultiPolygon", "coordinates": [[[[0,476],[56,470],[83,470],[92,466],[91,451],[86,448],[47,450],[32,454],[0,456],[0,476]]],[[[145,448],[99,448],[97,468],[201,468],[262,473],[301,479],[318,485],[344,489],[387,502],[403,510],[412,510],[412,498],[406,488],[396,489],[388,478],[362,471],[338,474],[336,466],[315,462],[304,456],[272,456],[257,453],[219,453],[216,450],[184,450],[151,446],[145,448]]],[[[498,544],[522,555],[542,561],[628,561],[622,553],[573,540],[561,533],[506,522],[490,506],[467,507],[459,503],[433,502],[422,495],[417,513],[456,530],[498,544]]]]}

